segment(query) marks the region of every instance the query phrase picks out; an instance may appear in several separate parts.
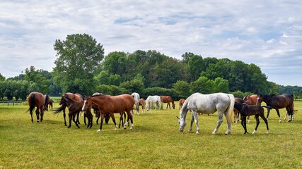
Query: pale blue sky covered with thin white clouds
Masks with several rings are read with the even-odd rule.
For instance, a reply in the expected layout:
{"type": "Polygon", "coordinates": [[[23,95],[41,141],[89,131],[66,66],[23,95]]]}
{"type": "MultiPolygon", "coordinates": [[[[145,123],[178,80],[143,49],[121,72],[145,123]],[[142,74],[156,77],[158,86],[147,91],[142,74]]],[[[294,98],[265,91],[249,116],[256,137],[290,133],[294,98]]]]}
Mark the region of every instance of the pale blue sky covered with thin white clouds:
{"type": "Polygon", "coordinates": [[[0,1],[0,73],[52,71],[54,41],[91,35],[112,51],[185,52],[255,63],[267,80],[302,86],[302,1],[0,1]]]}

